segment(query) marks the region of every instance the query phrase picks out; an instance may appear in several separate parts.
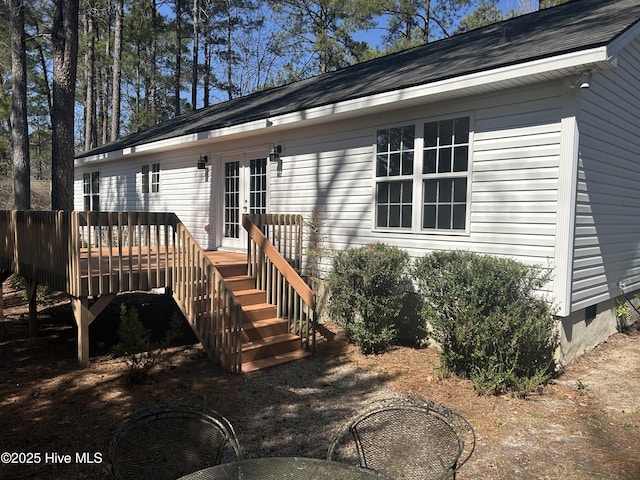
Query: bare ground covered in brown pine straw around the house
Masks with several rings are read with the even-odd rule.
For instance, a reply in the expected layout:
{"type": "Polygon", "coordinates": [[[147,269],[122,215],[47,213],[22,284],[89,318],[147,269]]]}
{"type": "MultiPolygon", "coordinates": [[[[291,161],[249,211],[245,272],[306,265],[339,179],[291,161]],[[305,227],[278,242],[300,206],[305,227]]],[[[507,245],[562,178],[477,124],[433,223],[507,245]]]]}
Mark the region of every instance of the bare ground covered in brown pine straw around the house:
{"type": "MultiPolygon", "coordinates": [[[[169,319],[162,296],[131,294],[147,325],[169,319]]],[[[117,302],[114,302],[114,304],[117,302]]],[[[614,335],[526,400],[479,397],[466,380],[441,378],[432,349],[397,347],[363,356],[341,330],[322,327],[310,359],[243,375],[213,366],[185,335],[148,381],[130,385],[113,358],[117,305],[91,326],[92,361],[78,369],[68,301],[40,305],[41,333],[28,337],[27,308],[5,284],[0,323],[0,452],[71,455],[70,464],[0,464],[0,478],[103,479],[113,426],[159,404],[219,411],[236,427],[250,457],[324,458],[333,433],[355,410],[387,396],[444,403],[474,426],[476,451],[458,479],[640,478],[640,335],[614,335]],[[87,452],[102,463],[78,463],[87,452]],[[96,455],[97,454],[97,455],[96,455]]],[[[51,457],[49,457],[51,458],[51,457]]]]}

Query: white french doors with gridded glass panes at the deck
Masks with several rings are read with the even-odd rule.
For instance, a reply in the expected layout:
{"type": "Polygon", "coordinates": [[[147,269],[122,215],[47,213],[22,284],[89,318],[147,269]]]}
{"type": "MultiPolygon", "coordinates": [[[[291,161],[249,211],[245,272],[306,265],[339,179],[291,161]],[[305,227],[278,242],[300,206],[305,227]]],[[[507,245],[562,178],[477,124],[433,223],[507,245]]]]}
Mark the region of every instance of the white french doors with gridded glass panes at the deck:
{"type": "Polygon", "coordinates": [[[222,242],[228,250],[247,248],[243,213],[267,212],[267,159],[232,158],[223,165],[222,242]]]}

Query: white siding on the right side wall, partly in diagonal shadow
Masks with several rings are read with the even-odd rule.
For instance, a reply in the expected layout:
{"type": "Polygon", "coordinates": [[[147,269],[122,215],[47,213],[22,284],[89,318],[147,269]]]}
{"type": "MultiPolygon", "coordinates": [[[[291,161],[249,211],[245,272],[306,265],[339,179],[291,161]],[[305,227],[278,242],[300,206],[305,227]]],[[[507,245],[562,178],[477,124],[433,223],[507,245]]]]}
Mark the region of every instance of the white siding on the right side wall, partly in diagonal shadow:
{"type": "Polygon", "coordinates": [[[581,91],[573,308],[640,288],[640,42],[581,91]]]}

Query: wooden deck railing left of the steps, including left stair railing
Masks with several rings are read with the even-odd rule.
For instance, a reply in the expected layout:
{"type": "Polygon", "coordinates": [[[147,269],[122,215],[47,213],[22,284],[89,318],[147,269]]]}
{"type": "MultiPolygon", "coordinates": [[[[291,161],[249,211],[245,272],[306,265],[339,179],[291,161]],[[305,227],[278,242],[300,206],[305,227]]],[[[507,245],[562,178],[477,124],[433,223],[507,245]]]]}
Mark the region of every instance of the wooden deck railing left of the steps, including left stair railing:
{"type": "Polygon", "coordinates": [[[169,287],[209,354],[240,370],[240,306],[175,214],[0,211],[0,270],[72,297],[81,364],[89,297],[169,287]]]}

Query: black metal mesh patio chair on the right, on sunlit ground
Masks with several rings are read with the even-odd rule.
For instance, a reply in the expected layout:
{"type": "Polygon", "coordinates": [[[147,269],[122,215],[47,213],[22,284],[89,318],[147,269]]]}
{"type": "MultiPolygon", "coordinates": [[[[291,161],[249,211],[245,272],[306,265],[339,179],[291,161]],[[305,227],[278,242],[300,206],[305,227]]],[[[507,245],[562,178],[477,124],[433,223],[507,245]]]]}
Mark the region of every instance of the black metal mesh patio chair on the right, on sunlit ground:
{"type": "Polygon", "coordinates": [[[473,428],[458,413],[426,400],[390,398],[349,420],[327,458],[394,479],[450,479],[474,448],[473,428]]]}

